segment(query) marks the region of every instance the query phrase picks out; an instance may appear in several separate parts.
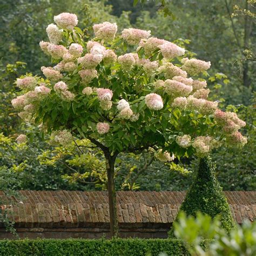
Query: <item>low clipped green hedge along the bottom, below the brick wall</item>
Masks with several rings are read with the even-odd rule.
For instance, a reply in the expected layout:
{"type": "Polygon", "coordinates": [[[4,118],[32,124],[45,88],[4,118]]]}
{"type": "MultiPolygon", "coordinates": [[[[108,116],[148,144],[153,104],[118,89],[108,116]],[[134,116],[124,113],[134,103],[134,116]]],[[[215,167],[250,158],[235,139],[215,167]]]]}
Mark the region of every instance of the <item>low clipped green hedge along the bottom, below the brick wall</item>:
{"type": "Polygon", "coordinates": [[[177,239],[24,239],[0,240],[0,255],[188,255],[177,239]],[[161,255],[161,254],[160,254],[161,255]]]}

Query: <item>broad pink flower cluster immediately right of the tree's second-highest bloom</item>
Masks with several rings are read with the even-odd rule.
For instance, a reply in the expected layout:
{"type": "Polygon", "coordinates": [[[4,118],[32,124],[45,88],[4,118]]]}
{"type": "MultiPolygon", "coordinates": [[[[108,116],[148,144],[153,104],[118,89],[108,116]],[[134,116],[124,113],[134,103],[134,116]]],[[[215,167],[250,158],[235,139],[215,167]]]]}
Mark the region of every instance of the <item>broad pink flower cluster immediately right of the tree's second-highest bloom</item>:
{"type": "Polygon", "coordinates": [[[145,31],[141,29],[124,29],[121,37],[127,44],[136,45],[141,39],[147,39],[150,37],[151,31],[145,31]]]}

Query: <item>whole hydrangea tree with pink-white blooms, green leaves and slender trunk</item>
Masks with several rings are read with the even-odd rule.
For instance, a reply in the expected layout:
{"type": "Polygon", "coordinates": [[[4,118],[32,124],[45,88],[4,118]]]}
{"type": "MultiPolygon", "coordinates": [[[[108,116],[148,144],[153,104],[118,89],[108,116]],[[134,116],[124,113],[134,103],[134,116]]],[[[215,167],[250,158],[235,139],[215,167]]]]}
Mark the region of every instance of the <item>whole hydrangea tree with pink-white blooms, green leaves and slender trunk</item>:
{"type": "MultiPolygon", "coordinates": [[[[119,153],[156,152],[161,161],[206,156],[227,143],[243,145],[245,126],[233,112],[207,100],[201,74],[210,62],[187,58],[180,46],[151,37],[150,31],[115,23],[93,26],[95,38],[83,41],[75,14],[54,17],[40,42],[52,66],[46,79],[17,79],[24,92],[12,100],[19,116],[51,134],[51,143],[89,139],[106,158],[111,235],[118,233],[114,163],[119,153]]],[[[24,136],[18,138],[24,142],[24,136]]]]}

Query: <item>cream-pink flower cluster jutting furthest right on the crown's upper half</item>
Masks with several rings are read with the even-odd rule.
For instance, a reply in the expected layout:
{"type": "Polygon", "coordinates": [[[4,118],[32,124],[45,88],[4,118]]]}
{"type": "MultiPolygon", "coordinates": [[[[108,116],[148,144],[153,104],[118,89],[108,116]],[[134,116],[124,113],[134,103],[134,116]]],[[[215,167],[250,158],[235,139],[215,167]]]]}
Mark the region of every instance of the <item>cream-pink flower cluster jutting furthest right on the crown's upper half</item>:
{"type": "Polygon", "coordinates": [[[181,69],[192,76],[196,76],[198,73],[210,69],[211,66],[211,62],[205,62],[204,60],[200,59],[183,58],[181,62],[183,63],[181,69]]]}

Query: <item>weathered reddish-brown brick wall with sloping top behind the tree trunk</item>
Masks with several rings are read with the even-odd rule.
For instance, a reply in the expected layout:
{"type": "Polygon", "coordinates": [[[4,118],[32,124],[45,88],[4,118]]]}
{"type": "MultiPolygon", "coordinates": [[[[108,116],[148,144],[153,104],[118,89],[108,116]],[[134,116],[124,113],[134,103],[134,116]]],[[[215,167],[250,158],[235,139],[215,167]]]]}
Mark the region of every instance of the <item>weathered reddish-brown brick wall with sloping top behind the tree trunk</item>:
{"type": "MultiPolygon", "coordinates": [[[[106,191],[20,191],[25,198],[16,204],[0,191],[2,209],[21,238],[101,238],[109,235],[109,205],[106,191]]],[[[121,237],[166,238],[185,191],[118,191],[117,214],[121,237]]],[[[237,223],[256,217],[256,191],[226,191],[237,223]]],[[[11,238],[0,223],[0,239],[11,238]]]]}

